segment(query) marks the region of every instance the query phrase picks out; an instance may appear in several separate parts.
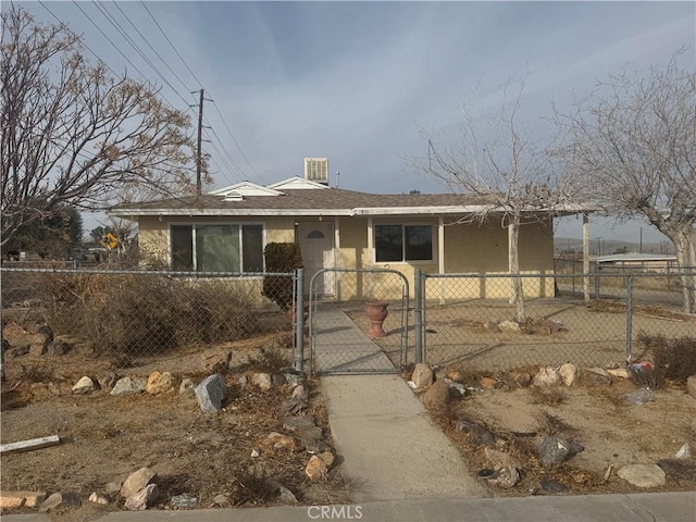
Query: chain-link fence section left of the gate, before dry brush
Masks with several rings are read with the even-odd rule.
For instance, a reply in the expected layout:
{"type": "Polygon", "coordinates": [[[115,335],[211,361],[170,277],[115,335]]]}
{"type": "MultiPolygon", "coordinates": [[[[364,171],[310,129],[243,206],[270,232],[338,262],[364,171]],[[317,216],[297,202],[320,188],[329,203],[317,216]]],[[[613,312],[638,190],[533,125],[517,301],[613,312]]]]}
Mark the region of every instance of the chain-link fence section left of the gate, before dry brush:
{"type": "Polygon", "coordinates": [[[273,295],[294,291],[291,273],[1,270],[3,348],[14,356],[149,358],[284,332],[294,346],[273,295]],[[266,276],[275,284],[264,288],[266,276]]]}

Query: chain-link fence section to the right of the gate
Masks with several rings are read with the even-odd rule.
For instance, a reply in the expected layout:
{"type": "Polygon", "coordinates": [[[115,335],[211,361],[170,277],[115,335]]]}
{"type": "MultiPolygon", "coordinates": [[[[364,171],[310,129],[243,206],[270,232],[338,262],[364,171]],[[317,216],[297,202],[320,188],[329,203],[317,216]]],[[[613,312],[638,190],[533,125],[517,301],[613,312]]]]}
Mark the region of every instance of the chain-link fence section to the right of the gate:
{"type": "Polygon", "coordinates": [[[649,357],[635,343],[641,336],[696,336],[696,318],[681,312],[684,275],[421,274],[415,350],[431,364],[467,362],[486,371],[639,360],[649,357]],[[521,323],[509,302],[515,278],[525,295],[521,323]]]}

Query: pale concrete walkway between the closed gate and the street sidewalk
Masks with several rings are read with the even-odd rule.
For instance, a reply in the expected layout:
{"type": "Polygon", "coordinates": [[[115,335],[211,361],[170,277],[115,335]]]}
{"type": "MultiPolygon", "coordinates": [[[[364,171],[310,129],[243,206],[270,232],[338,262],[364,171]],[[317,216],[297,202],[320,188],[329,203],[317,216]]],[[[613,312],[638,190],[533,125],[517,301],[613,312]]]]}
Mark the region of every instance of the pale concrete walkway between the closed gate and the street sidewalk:
{"type": "Polygon", "coordinates": [[[352,501],[486,494],[403,378],[337,375],[321,381],[352,501]]]}

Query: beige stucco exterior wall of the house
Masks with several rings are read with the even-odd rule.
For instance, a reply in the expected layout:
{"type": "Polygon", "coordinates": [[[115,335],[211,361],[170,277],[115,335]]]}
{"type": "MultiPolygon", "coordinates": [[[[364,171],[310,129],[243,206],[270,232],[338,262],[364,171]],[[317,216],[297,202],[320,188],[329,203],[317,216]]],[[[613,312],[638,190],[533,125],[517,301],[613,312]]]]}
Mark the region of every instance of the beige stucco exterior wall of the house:
{"type": "MultiPolygon", "coordinates": [[[[295,223],[301,217],[186,217],[141,216],[139,220],[139,245],[142,252],[152,260],[169,265],[169,227],[172,223],[262,223],[265,227],[265,243],[294,241],[295,223]]],[[[339,244],[336,249],[336,266],[341,269],[393,269],[402,273],[413,293],[415,270],[438,273],[437,217],[373,217],[374,225],[407,224],[433,226],[433,260],[417,262],[377,263],[368,248],[368,217],[339,217],[339,244]]],[[[428,298],[507,298],[510,279],[502,276],[508,270],[508,232],[498,223],[446,225],[445,273],[487,274],[480,278],[428,279],[428,298]],[[500,274],[500,277],[494,277],[500,274]]],[[[524,274],[551,274],[554,271],[554,236],[547,224],[523,225],[520,229],[520,264],[524,274]]],[[[259,284],[261,278],[258,279],[259,284]]],[[[368,273],[337,273],[336,295],[339,299],[399,299],[402,283],[393,274],[374,275],[368,273]]],[[[529,277],[523,283],[526,297],[552,297],[552,277],[529,277]]],[[[259,287],[260,291],[260,287],[259,287]]]]}

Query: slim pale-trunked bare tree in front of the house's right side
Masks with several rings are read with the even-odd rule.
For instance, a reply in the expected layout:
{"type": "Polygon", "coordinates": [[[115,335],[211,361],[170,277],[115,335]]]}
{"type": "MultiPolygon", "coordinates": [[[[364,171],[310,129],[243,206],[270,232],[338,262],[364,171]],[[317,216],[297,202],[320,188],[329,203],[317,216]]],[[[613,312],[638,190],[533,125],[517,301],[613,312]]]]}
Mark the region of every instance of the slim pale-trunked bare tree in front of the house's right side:
{"type": "MultiPolygon", "coordinates": [[[[508,270],[520,274],[519,237],[525,224],[548,222],[556,211],[572,203],[571,186],[555,176],[551,159],[519,122],[519,90],[509,96],[509,82],[498,114],[488,124],[474,125],[474,107],[462,108],[458,147],[442,150],[428,139],[427,161],[415,166],[444,182],[450,190],[477,196],[484,204],[478,212],[458,223],[484,223],[499,220],[508,229],[508,270]]],[[[517,320],[526,320],[522,279],[511,278],[510,303],[517,304],[517,320]]]]}

